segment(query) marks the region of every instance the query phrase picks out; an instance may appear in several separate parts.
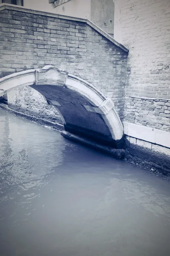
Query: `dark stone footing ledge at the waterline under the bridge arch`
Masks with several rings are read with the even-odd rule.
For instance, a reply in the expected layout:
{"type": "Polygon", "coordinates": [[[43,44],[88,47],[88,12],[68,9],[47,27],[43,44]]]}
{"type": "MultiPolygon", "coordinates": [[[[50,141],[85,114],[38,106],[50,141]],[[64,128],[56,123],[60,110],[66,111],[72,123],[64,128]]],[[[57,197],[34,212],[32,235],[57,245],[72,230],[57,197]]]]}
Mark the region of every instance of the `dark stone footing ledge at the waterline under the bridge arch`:
{"type": "Polygon", "coordinates": [[[93,148],[97,151],[101,151],[105,154],[109,154],[117,159],[122,159],[125,157],[125,150],[124,149],[116,149],[116,148],[110,148],[105,145],[100,145],[98,143],[95,143],[91,140],[87,140],[86,138],[79,137],[77,135],[68,133],[67,131],[62,131],[61,135],[69,140],[73,140],[75,142],[78,142],[80,144],[86,145],[90,148],[93,148]]]}

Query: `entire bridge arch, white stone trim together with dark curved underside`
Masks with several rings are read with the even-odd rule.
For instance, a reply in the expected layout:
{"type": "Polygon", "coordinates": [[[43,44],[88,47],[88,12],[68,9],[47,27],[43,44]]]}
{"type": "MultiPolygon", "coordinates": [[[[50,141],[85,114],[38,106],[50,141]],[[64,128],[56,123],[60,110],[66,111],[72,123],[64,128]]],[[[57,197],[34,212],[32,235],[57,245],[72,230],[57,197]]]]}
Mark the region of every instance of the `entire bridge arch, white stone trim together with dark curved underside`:
{"type": "Polygon", "coordinates": [[[99,144],[122,148],[123,126],[111,99],[87,81],[54,66],[11,74],[0,79],[0,96],[31,86],[57,108],[65,131],[99,144]]]}

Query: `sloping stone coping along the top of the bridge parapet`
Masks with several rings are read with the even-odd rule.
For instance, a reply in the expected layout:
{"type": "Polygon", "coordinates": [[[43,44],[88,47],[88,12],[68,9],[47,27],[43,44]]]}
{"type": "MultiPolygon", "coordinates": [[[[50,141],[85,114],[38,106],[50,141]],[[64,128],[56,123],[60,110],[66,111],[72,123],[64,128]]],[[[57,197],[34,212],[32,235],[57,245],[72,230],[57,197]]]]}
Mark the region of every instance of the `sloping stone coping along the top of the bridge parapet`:
{"type": "Polygon", "coordinates": [[[43,15],[43,16],[55,17],[55,18],[64,19],[64,20],[73,20],[73,21],[79,21],[79,22],[82,22],[82,23],[86,23],[88,26],[95,29],[97,32],[99,32],[99,34],[101,34],[102,36],[107,38],[109,41],[111,41],[117,47],[121,48],[123,51],[125,51],[125,52],[129,51],[125,46],[123,46],[122,44],[115,41],[108,33],[106,33],[104,30],[99,28],[99,26],[97,26],[91,20],[82,19],[82,18],[79,18],[79,17],[59,15],[59,14],[55,14],[55,13],[52,13],[52,12],[42,12],[42,11],[39,11],[39,10],[26,8],[24,6],[13,6],[13,5],[8,4],[8,3],[0,4],[0,11],[3,11],[4,9],[14,10],[14,11],[17,11],[17,12],[33,13],[33,14],[36,14],[36,15],[43,15]]]}

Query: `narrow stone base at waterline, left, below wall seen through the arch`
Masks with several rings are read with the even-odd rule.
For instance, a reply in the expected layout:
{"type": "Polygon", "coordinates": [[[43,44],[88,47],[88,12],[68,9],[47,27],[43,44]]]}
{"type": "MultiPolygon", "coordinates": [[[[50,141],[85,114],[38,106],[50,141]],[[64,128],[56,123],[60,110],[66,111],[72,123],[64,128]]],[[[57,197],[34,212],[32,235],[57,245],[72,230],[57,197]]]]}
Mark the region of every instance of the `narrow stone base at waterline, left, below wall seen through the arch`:
{"type": "Polygon", "coordinates": [[[48,120],[45,120],[45,119],[42,119],[42,118],[39,118],[38,116],[30,116],[28,114],[24,114],[24,113],[21,113],[21,112],[18,112],[18,111],[15,111],[11,108],[8,107],[8,105],[4,104],[4,103],[0,103],[0,108],[2,108],[3,110],[5,111],[8,111],[9,113],[11,114],[14,114],[16,116],[21,116],[23,117],[24,119],[27,119],[29,121],[33,121],[33,122],[36,122],[40,125],[47,125],[51,128],[54,128],[56,130],[59,130],[59,131],[63,131],[64,130],[64,126],[61,125],[61,124],[58,124],[58,123],[54,123],[54,122],[51,122],[51,121],[48,121],[48,120]]]}

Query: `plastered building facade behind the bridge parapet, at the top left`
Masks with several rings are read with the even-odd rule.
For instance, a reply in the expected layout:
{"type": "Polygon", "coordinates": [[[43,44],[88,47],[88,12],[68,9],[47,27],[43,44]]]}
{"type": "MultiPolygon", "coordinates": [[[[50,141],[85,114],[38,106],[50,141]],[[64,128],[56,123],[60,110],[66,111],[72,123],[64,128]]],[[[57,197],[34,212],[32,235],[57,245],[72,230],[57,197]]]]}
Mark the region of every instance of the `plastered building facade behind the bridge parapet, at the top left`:
{"type": "Polygon", "coordinates": [[[44,12],[89,19],[105,32],[113,35],[113,0],[0,0],[44,12]]]}

